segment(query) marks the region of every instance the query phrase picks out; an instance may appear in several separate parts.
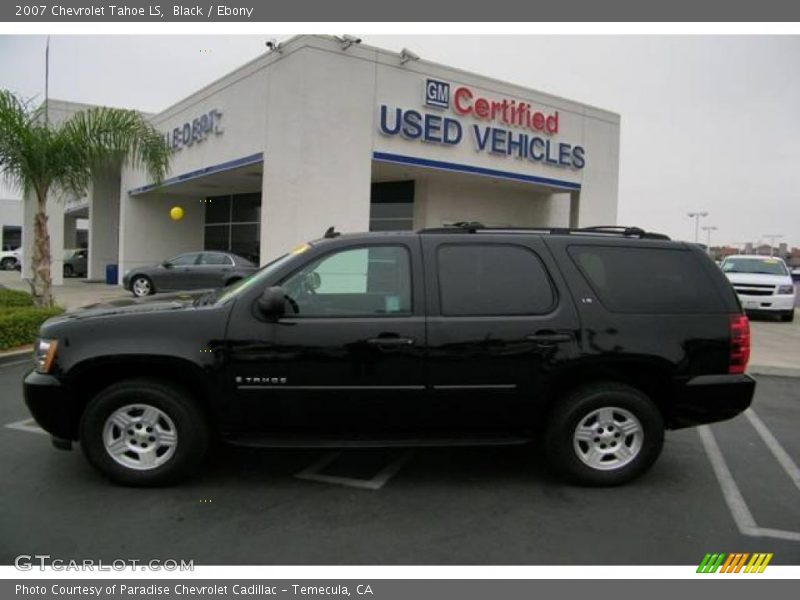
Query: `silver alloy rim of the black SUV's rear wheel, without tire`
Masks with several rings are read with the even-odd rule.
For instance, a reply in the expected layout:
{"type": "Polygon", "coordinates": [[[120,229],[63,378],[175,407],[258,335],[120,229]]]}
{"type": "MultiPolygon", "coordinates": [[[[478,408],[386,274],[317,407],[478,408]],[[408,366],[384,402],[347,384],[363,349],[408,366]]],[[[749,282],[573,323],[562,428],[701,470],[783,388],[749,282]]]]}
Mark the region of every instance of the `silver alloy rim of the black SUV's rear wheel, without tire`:
{"type": "Polygon", "coordinates": [[[624,467],[642,450],[644,429],[633,413],[616,406],[593,410],[578,422],[572,437],[575,453],[593,469],[624,467]]]}

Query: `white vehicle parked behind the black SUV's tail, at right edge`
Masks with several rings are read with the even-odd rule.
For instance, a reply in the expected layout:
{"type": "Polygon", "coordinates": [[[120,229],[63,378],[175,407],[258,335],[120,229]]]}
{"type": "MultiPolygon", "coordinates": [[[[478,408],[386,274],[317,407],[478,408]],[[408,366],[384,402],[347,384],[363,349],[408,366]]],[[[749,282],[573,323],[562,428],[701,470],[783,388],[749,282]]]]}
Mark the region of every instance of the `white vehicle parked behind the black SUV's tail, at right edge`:
{"type": "Polygon", "coordinates": [[[726,257],[721,268],[746,312],[778,315],[782,321],[794,320],[794,283],[783,260],[734,255],[726,257]]]}

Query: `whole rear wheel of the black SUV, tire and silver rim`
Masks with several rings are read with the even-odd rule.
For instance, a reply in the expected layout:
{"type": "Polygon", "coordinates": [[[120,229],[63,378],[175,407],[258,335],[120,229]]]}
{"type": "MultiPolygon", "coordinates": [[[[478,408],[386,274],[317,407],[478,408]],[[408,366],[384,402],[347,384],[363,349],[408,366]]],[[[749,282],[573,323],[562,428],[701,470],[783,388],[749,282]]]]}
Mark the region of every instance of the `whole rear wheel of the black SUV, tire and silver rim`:
{"type": "Polygon", "coordinates": [[[636,388],[581,387],[560,400],[547,424],[550,463],[582,485],[626,483],[652,466],[664,444],[664,420],[636,388]]]}

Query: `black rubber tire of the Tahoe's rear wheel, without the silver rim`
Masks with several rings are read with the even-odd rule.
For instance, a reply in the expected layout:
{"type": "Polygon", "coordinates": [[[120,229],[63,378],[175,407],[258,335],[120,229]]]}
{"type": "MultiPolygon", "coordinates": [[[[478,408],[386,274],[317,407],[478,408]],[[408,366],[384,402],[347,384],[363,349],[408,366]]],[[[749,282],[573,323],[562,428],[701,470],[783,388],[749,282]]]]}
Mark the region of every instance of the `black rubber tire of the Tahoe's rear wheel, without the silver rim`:
{"type": "MultiPolygon", "coordinates": [[[[589,427],[594,428],[594,425],[589,427]]],[[[557,400],[545,432],[545,452],[550,465],[573,482],[587,486],[620,485],[635,479],[653,465],[663,445],[664,419],[658,407],[636,388],[615,382],[589,384],[557,400]],[[641,426],[641,438],[625,434],[619,425],[624,425],[627,420],[623,420],[624,415],[619,410],[612,410],[612,422],[616,427],[599,427],[597,431],[604,433],[598,433],[588,442],[577,441],[575,435],[578,425],[591,423],[587,419],[593,411],[606,407],[621,409],[635,417],[641,426]],[[610,436],[610,441],[601,436],[610,436]],[[586,455],[590,450],[589,444],[599,447],[604,442],[606,445],[603,448],[608,447],[609,453],[614,452],[612,443],[618,449],[621,449],[618,444],[624,443],[626,448],[638,448],[638,451],[628,459],[629,462],[623,462],[619,467],[613,466],[615,461],[619,462],[616,454],[607,463],[602,463],[606,465],[602,468],[584,462],[581,454],[586,455]]]]}

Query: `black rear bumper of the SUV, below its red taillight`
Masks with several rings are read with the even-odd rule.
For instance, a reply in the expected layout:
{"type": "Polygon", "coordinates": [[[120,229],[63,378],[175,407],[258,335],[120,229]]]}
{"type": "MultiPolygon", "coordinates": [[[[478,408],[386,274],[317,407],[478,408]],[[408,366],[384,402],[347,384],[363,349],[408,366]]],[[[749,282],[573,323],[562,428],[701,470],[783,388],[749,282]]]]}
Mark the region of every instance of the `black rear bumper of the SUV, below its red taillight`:
{"type": "Polygon", "coordinates": [[[677,385],[670,407],[670,429],[726,421],[753,402],[756,380],[750,375],[700,375],[677,385]]]}

